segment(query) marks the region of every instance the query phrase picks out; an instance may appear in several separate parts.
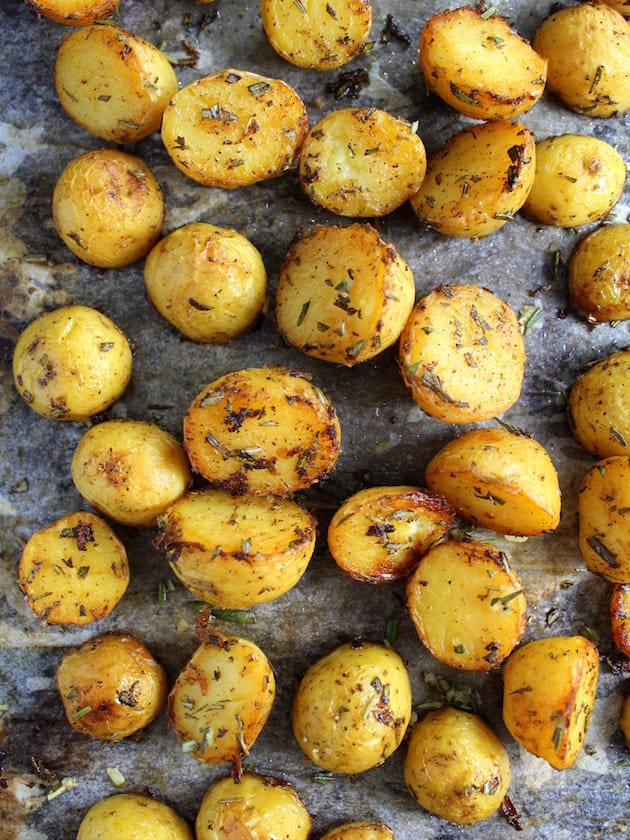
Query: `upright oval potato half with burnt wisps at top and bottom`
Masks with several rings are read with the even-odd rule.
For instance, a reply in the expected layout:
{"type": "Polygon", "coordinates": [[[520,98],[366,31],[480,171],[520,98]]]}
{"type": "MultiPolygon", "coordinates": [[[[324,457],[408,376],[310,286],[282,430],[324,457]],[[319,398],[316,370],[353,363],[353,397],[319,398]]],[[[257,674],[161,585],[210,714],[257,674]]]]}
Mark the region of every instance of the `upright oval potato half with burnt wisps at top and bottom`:
{"type": "Polygon", "coordinates": [[[257,645],[213,631],[168,697],[182,750],[205,764],[239,767],[267,722],[275,691],[273,670],[257,645]]]}

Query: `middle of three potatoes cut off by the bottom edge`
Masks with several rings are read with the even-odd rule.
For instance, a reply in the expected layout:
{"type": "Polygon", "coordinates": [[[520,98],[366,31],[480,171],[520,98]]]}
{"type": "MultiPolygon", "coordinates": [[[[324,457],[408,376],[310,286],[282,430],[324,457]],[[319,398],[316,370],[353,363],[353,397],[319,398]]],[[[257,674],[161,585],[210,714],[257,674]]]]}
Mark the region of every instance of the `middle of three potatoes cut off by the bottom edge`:
{"type": "Polygon", "coordinates": [[[197,840],[307,840],[311,818],[289,782],[257,773],[214,781],[195,820],[197,840]]]}

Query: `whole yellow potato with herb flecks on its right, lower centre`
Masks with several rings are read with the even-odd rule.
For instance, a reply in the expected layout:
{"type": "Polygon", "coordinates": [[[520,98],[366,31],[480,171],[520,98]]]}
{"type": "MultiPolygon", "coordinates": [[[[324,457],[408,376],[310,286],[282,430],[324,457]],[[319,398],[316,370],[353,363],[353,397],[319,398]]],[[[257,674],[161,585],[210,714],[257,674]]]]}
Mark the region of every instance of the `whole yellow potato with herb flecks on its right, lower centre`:
{"type": "Polygon", "coordinates": [[[391,648],[356,640],[313,663],[293,698],[293,734],[324,770],[363,773],[400,745],[411,717],[411,685],[391,648]]]}

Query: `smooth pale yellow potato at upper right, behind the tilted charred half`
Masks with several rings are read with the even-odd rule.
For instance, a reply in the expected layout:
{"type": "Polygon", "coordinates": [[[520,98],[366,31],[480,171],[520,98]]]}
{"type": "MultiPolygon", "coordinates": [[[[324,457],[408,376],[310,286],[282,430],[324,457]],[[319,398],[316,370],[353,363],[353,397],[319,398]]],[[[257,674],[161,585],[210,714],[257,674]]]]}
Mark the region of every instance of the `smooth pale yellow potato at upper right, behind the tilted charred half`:
{"type": "Polygon", "coordinates": [[[619,152],[597,137],[561,134],[536,144],[536,176],[523,213],[556,227],[596,222],[623,192],[626,165],[619,152]]]}

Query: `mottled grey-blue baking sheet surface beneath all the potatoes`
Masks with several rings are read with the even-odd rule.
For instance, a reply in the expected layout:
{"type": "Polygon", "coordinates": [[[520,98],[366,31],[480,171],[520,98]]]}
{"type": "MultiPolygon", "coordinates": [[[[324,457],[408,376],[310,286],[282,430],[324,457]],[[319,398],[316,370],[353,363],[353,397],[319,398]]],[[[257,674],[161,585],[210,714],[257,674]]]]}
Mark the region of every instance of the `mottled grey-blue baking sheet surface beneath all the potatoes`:
{"type": "MultiPolygon", "coordinates": [[[[327,90],[340,71],[313,73],[275,55],[261,32],[255,3],[121,0],[118,22],[163,44],[171,56],[184,57],[184,41],[192,44],[198,60],[194,67],[176,68],[182,84],[226,67],[280,77],[303,97],[311,121],[352,104],[386,107],[418,120],[419,134],[431,152],[468,122],[426,95],[418,69],[416,45],[422,25],[446,5],[375,0],[373,49],[348,68],[365,68],[369,85],[358,99],[341,101],[327,90]],[[381,39],[388,14],[409,35],[411,45],[396,37],[381,39]]],[[[549,8],[550,3],[497,4],[498,12],[526,37],[532,36],[549,8]]],[[[504,419],[531,431],[549,451],[561,480],[562,520],[554,534],[524,543],[493,538],[509,554],[524,584],[530,615],[526,638],[588,628],[586,632],[600,639],[604,658],[587,747],[572,770],[558,773],[521,750],[505,731],[499,673],[483,678],[457,674],[432,660],[405,614],[403,587],[375,588],[351,581],[327,554],[327,522],[342,500],[367,485],[422,484],[429,458],[460,431],[426,417],[413,404],[397,371],[395,351],[354,369],[337,368],[287,348],[270,318],[230,346],[194,345],[147,303],[141,264],[101,271],[80,264],[61,243],[50,212],[56,179],[71,158],[101,145],[65,116],[56,99],[55,49],[68,31],[39,19],[21,0],[4,0],[0,7],[0,751],[4,753],[0,836],[7,840],[75,837],[86,808],[116,792],[108,767],[123,773],[125,790],[150,790],[192,822],[209,783],[225,772],[182,753],[165,714],[119,744],[80,736],[65,721],[55,691],[54,669],[62,651],[100,632],[134,632],[164,663],[171,679],[195,649],[197,609],[151,547],[153,531],[116,527],[127,546],[132,579],[114,613],[97,625],[43,626],[25,606],[17,586],[21,547],[31,533],[84,507],[70,479],[70,459],[88,424],[38,417],[17,397],[10,375],[13,345],[23,326],[45,309],[71,302],[103,310],[135,348],[131,386],[108,417],[155,420],[181,437],[183,414],[205,384],[229,370],[263,363],[309,371],[337,407],[343,447],[337,468],[324,485],[303,494],[320,523],[318,547],[307,573],[292,592],[257,607],[255,623],[221,625],[257,642],[277,674],[274,709],[248,765],[295,785],[313,816],[316,835],[358,818],[387,822],[399,840],[493,840],[513,830],[500,815],[476,827],[457,827],[421,810],[404,787],[402,750],[381,768],[356,779],[335,776],[325,784],[318,783],[316,768],[303,758],[289,722],[291,696],[300,675],[342,641],[355,636],[383,639],[390,619],[398,621],[396,647],[407,661],[416,703],[429,693],[427,673],[442,674],[479,691],[483,714],[510,753],[510,796],[520,814],[522,837],[575,840],[625,834],[630,754],[623,748],[616,722],[624,688],[623,663],[610,638],[611,586],[586,572],[577,549],[576,487],[593,459],[569,435],[564,393],[586,363],[626,346],[629,333],[625,323],[591,329],[570,310],[556,255],[568,257],[578,232],[537,227],[519,217],[487,239],[468,242],[421,229],[407,208],[378,224],[383,237],[412,267],[418,296],[441,283],[478,283],[505,298],[517,312],[528,306],[542,310],[539,328],[525,338],[528,358],[522,397],[504,419]],[[169,586],[161,604],[160,584],[169,581],[173,588],[169,586]],[[555,621],[550,623],[552,618],[555,621]],[[74,787],[48,800],[46,793],[62,778],[72,779],[74,787]]],[[[626,161],[630,159],[627,117],[591,120],[545,96],[522,121],[539,139],[568,131],[592,133],[616,146],[626,161]]],[[[263,254],[271,289],[296,232],[317,222],[339,221],[306,200],[294,172],[227,192],[186,180],[157,135],[130,150],[147,160],[164,189],[165,231],[197,220],[236,228],[263,254]]],[[[611,219],[626,221],[629,205],[627,189],[611,219]]]]}

